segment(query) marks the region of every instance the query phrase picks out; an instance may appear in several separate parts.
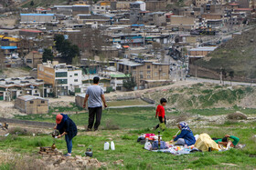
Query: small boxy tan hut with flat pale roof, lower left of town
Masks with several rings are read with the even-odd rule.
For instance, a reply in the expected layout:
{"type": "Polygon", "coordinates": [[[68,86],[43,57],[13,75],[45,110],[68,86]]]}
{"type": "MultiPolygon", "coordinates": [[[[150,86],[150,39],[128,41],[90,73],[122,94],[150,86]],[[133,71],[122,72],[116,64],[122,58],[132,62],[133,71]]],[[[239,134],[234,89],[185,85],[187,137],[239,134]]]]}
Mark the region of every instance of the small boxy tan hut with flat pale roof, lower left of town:
{"type": "Polygon", "coordinates": [[[22,95],[16,98],[15,107],[26,114],[48,114],[48,99],[22,95]]]}

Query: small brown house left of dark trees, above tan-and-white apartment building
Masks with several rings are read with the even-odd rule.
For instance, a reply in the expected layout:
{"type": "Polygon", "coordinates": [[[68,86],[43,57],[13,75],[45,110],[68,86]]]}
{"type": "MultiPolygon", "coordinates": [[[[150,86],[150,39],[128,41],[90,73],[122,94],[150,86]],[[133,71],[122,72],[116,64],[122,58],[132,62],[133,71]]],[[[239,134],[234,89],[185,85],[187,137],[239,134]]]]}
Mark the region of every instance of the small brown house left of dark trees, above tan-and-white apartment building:
{"type": "Polygon", "coordinates": [[[37,68],[38,64],[42,64],[42,60],[43,54],[37,51],[32,51],[24,57],[25,65],[29,66],[30,68],[37,68]]]}

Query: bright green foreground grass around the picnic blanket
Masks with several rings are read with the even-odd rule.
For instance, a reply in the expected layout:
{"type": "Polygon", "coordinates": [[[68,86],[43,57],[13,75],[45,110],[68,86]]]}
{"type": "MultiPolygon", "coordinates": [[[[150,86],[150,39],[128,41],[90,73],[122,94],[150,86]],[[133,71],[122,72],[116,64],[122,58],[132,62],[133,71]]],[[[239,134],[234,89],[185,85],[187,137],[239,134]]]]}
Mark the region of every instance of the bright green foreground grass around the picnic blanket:
{"type": "MultiPolygon", "coordinates": [[[[82,133],[73,140],[73,154],[83,155],[86,147],[93,146],[93,157],[101,162],[109,163],[110,169],[184,169],[184,168],[246,168],[253,169],[256,166],[255,157],[255,138],[251,138],[255,134],[255,130],[251,127],[238,128],[237,125],[222,126],[221,129],[204,128],[193,129],[194,134],[208,133],[211,136],[221,137],[227,133],[240,137],[240,142],[246,144],[243,150],[232,149],[226,152],[197,153],[191,155],[170,155],[164,153],[153,153],[143,149],[143,145],[136,142],[137,135],[141,133],[157,133],[149,129],[141,129],[135,131],[100,131],[95,133],[82,133]],[[226,128],[233,126],[232,130],[226,128]],[[111,139],[110,139],[111,138],[111,139]],[[115,151],[104,151],[103,144],[105,141],[115,142],[115,151]],[[86,145],[85,148],[78,147],[78,144],[86,145]],[[112,162],[123,159],[122,165],[113,165],[112,162]],[[233,165],[223,165],[228,163],[233,165]]],[[[170,140],[170,136],[176,134],[177,129],[168,129],[163,135],[165,141],[170,140]]],[[[32,153],[37,154],[37,146],[52,145],[53,140],[49,135],[43,136],[15,136],[10,135],[0,143],[1,150],[11,149],[16,153],[32,153]]],[[[57,147],[66,152],[66,144],[64,139],[56,140],[57,147]]]]}

